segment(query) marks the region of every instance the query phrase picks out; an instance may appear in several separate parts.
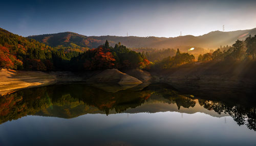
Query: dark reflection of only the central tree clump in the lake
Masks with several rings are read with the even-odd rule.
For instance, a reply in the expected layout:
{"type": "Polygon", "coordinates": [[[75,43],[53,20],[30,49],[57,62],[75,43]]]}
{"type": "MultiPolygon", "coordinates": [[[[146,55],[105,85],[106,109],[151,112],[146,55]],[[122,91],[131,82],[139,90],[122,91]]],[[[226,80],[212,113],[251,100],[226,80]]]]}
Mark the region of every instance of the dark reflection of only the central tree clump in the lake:
{"type": "Polygon", "coordinates": [[[110,110],[117,113],[125,111],[127,108],[135,108],[143,103],[148,96],[148,91],[119,91],[106,92],[104,90],[89,87],[78,86],[76,90],[69,90],[73,98],[79,99],[83,103],[95,106],[101,111],[109,114],[110,110]],[[80,88],[80,89],[79,89],[80,88]]]}

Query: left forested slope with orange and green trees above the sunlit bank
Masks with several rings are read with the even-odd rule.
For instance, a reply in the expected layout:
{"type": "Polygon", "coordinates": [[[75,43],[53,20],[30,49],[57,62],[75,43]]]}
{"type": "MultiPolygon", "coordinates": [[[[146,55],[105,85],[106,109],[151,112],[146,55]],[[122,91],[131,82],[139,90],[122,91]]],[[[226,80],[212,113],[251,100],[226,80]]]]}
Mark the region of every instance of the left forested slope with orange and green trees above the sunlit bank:
{"type": "Polygon", "coordinates": [[[58,70],[84,51],[85,48],[62,45],[50,47],[0,28],[0,68],[58,70]]]}

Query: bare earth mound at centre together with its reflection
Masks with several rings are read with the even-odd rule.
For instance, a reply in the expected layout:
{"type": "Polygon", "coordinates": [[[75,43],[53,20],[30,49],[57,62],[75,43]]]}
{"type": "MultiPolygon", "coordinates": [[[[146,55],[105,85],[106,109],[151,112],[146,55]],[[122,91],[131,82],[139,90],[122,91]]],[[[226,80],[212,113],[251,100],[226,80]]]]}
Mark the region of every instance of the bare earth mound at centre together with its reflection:
{"type": "Polygon", "coordinates": [[[92,86],[103,89],[108,92],[117,92],[132,88],[142,82],[137,78],[124,74],[117,69],[106,69],[99,74],[89,78],[88,83],[92,86]]]}

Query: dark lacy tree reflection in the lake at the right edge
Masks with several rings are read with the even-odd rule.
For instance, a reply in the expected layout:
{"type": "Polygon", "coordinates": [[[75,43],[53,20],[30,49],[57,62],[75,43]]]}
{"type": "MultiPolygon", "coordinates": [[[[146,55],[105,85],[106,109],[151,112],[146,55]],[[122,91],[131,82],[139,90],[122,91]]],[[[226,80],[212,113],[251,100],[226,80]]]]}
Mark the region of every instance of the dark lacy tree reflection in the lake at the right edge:
{"type": "Polygon", "coordinates": [[[199,99],[199,104],[207,110],[214,110],[221,114],[228,113],[239,126],[246,125],[248,129],[256,131],[255,107],[245,107],[241,105],[230,105],[222,102],[199,99]]]}

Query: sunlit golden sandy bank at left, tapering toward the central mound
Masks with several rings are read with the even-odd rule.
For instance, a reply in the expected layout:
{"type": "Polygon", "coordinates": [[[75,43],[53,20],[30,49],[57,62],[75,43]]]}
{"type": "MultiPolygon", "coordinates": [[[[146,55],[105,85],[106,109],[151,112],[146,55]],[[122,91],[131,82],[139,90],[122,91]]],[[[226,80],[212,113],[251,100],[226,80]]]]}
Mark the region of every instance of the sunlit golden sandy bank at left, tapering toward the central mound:
{"type": "Polygon", "coordinates": [[[0,95],[17,89],[46,86],[56,83],[83,81],[83,77],[68,71],[42,72],[24,70],[0,70],[0,95]]]}

